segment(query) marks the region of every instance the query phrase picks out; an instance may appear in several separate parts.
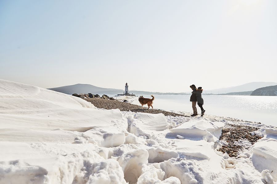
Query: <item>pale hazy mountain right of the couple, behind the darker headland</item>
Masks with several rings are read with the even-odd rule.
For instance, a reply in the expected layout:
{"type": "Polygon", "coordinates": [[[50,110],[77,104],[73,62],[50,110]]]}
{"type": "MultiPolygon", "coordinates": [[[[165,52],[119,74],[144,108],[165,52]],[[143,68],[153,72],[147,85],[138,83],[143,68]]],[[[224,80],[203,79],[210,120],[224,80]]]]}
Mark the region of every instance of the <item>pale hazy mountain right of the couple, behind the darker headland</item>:
{"type": "Polygon", "coordinates": [[[261,87],[274,86],[274,85],[277,85],[277,83],[276,82],[250,82],[240,86],[206,90],[206,93],[224,94],[224,93],[241,92],[241,91],[254,91],[255,89],[258,89],[261,87]]]}

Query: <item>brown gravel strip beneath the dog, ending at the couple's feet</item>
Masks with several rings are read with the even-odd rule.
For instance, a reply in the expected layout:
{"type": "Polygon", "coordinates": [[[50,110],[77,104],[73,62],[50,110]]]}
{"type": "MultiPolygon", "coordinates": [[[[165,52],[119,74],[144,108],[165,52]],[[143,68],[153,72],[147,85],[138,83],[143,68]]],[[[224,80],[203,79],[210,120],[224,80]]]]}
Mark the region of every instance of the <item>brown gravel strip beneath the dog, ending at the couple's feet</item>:
{"type": "Polygon", "coordinates": [[[97,108],[103,109],[119,109],[121,111],[132,111],[132,112],[141,112],[141,113],[152,113],[152,114],[159,114],[163,113],[165,116],[185,116],[190,117],[183,114],[177,114],[172,112],[167,112],[158,109],[147,109],[141,108],[139,105],[134,105],[126,102],[120,102],[118,100],[106,100],[103,98],[85,98],[86,101],[91,102],[97,108]]]}

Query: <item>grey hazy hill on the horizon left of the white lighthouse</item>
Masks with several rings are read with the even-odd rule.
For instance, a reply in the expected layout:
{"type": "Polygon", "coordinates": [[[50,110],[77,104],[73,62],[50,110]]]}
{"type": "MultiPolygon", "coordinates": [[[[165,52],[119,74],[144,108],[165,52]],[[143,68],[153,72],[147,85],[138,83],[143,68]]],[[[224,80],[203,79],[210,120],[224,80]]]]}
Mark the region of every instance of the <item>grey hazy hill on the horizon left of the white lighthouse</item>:
{"type": "Polygon", "coordinates": [[[74,94],[74,93],[92,93],[92,94],[123,94],[124,90],[112,89],[112,88],[103,88],[92,86],[90,84],[75,84],[70,86],[62,86],[49,88],[48,90],[58,91],[65,94],[74,94]]]}

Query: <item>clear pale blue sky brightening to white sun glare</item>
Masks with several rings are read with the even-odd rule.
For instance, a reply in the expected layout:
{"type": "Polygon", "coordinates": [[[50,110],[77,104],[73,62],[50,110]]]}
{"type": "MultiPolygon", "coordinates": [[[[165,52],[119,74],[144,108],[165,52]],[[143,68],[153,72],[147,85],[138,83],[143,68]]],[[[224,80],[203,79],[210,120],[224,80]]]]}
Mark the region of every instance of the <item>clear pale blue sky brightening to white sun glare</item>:
{"type": "Polygon", "coordinates": [[[0,1],[0,79],[184,92],[277,82],[277,1],[0,1]]]}

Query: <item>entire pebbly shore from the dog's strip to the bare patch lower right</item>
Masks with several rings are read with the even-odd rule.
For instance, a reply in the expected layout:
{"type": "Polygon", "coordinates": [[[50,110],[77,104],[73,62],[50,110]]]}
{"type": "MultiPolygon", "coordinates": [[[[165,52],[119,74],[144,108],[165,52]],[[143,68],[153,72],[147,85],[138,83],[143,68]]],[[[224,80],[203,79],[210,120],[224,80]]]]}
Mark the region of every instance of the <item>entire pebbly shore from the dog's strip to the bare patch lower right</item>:
{"type": "Polygon", "coordinates": [[[120,111],[132,111],[142,113],[163,113],[165,116],[175,117],[190,117],[192,119],[217,119],[224,122],[225,126],[222,128],[222,134],[219,137],[217,151],[227,153],[230,157],[239,157],[245,150],[251,149],[251,146],[255,144],[259,139],[263,138],[263,134],[259,132],[261,128],[275,128],[272,125],[265,125],[257,122],[238,120],[231,117],[219,117],[215,115],[200,115],[191,117],[191,113],[187,112],[168,112],[160,109],[147,109],[141,108],[139,105],[131,104],[128,102],[122,102],[120,100],[106,100],[103,98],[85,98],[84,100],[91,102],[94,106],[100,109],[119,109],[120,111]]]}

